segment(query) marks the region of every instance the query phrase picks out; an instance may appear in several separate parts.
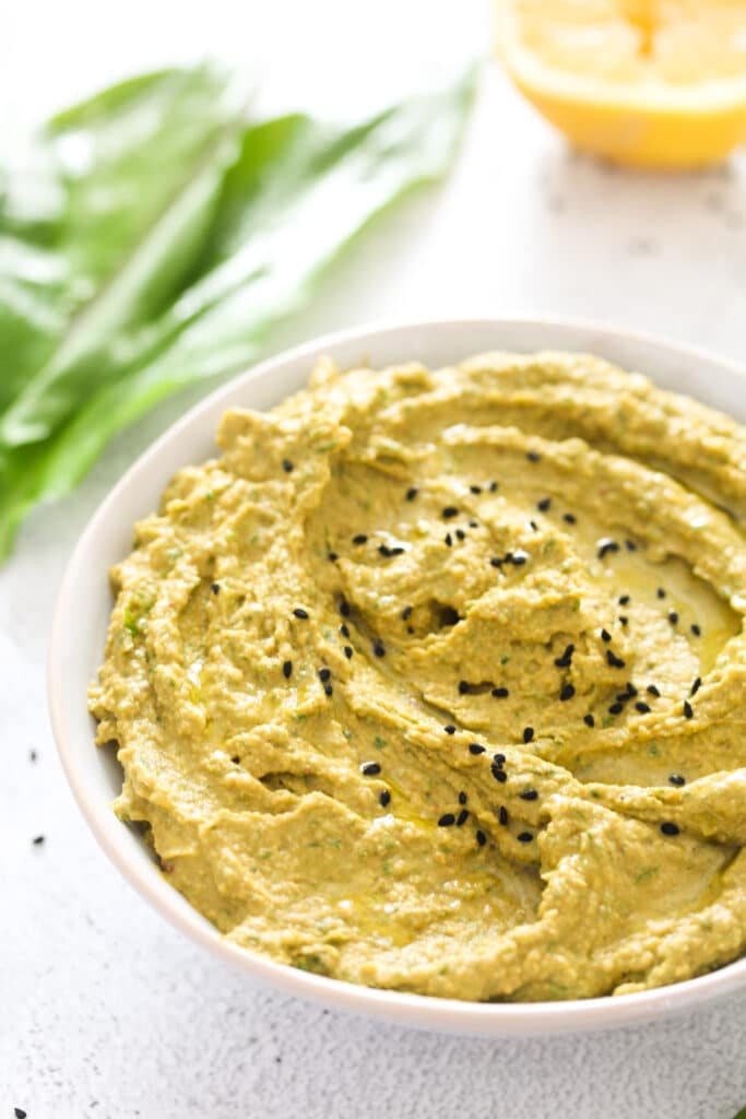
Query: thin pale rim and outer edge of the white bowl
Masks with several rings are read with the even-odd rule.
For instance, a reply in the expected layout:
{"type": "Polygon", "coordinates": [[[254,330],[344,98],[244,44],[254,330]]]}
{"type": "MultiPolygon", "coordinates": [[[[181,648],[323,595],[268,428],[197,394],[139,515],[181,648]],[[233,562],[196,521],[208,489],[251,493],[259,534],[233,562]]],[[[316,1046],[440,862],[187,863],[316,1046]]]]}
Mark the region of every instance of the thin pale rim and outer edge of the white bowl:
{"type": "MultiPolygon", "coordinates": [[[[289,965],[276,963],[225,940],[197,910],[188,906],[181,911],[182,896],[158,875],[154,864],[152,873],[148,865],[140,865],[114,838],[113,821],[124,828],[114,817],[110,802],[101,802],[86,781],[86,767],[79,765],[72,747],[66,726],[62,689],[64,686],[63,665],[68,619],[73,617],[73,596],[81,581],[81,571],[88,547],[94,539],[98,524],[110,514],[120,496],[138,479],[147,473],[158,460],[162,448],[177,440],[181,430],[191,424],[198,415],[211,411],[221,401],[253,380],[265,380],[282,367],[299,360],[311,361],[319,354],[332,354],[340,347],[359,342],[362,348],[386,336],[397,332],[427,332],[433,330],[459,330],[464,328],[511,330],[531,328],[556,329],[558,335],[592,335],[603,342],[629,342],[649,347],[659,354],[668,352],[688,360],[700,360],[720,367],[727,375],[746,380],[746,367],[730,358],[703,347],[681,344],[649,331],[629,330],[621,326],[593,319],[550,316],[457,316],[424,320],[383,320],[361,323],[342,330],[322,335],[291,349],[275,354],[251,365],[236,376],[219,385],[200,401],[188,407],[132,462],[116,483],[97,505],[81,534],[65,568],[54,608],[47,650],[47,698],[54,737],[67,782],[77,806],[98,844],[123,877],[176,929],[192,941],[207,948],[234,967],[249,974],[261,984],[286,994],[321,1004],[346,1013],[360,1014],[396,1025],[406,1025],[442,1033],[483,1036],[538,1036],[563,1033],[585,1033],[611,1029],[644,1021],[658,1019],[681,1013],[701,1003],[724,997],[746,986],[746,957],[742,957],[717,970],[672,984],[667,987],[634,993],[624,996],[601,996],[587,999],[568,999],[544,1003],[471,1003],[455,998],[441,998],[398,990],[365,987],[346,980],[331,979],[302,971],[289,965]],[[105,814],[105,815],[104,815],[105,814]]],[[[583,351],[583,347],[560,345],[557,350],[583,351]]],[[[540,347],[548,349],[548,347],[540,347]]],[[[586,350],[587,351],[587,350],[586,350]]],[[[404,355],[403,355],[404,359],[404,355]]],[[[655,373],[648,372],[655,380],[655,373]]],[[[282,397],[281,397],[282,398],[282,397]]],[[[95,750],[93,739],[92,747],[95,750]]],[[[92,759],[94,754],[92,753],[92,759]]]]}

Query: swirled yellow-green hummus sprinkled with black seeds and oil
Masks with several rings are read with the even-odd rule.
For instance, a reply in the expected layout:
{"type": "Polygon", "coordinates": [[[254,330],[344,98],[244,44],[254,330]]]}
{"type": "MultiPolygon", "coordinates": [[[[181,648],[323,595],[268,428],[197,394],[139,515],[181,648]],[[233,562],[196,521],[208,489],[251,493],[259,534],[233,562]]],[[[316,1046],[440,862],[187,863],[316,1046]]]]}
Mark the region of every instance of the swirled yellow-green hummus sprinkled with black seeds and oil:
{"type": "Polygon", "coordinates": [[[594,357],[228,412],[113,571],[116,811],[230,941],[462,999],[746,943],[746,430],[594,357]]]}

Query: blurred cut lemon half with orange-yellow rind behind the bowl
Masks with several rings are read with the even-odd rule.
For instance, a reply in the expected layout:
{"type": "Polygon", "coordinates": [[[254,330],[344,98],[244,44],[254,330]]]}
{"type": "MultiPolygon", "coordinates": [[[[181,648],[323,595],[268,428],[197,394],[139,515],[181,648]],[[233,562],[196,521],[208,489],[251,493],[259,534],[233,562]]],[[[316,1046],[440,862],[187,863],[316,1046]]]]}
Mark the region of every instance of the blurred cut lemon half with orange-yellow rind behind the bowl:
{"type": "Polygon", "coordinates": [[[498,0],[516,85],[576,147],[701,167],[746,139],[746,0],[498,0]]]}

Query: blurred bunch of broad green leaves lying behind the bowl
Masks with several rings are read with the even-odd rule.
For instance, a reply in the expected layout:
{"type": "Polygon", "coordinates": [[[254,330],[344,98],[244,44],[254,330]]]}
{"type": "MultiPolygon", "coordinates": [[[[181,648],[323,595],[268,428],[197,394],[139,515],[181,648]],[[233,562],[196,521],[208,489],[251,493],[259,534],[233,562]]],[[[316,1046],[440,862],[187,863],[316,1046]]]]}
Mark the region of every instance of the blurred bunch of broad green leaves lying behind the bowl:
{"type": "Polygon", "coordinates": [[[115,432],[254,359],[376,214],[442,176],[473,86],[347,126],[247,123],[245,92],[198,67],[55,117],[0,177],[0,555],[115,432]]]}

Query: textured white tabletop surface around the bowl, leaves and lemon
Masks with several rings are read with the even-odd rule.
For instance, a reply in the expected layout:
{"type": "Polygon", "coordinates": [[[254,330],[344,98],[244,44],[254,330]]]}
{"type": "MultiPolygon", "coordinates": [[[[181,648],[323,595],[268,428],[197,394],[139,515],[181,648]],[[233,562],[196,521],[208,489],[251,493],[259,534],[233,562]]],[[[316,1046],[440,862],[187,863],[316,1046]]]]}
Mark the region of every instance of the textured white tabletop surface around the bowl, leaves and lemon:
{"type": "MultiPolygon", "coordinates": [[[[482,0],[25,0],[6,6],[0,35],[4,147],[97,84],[200,51],[261,64],[273,103],[346,107],[487,50],[490,25],[482,0]]],[[[273,349],[384,316],[548,311],[746,359],[745,180],[743,160],[657,179],[578,159],[493,70],[451,181],[362,238],[273,349]]],[[[120,438],[72,499],[32,517],[0,572],[0,1119],[13,1104],[29,1119],[731,1119],[746,1103],[743,996],[556,1041],[371,1025],[252,987],[108,865],[51,742],[47,630],[85,520],[183,406],[120,438]]]]}

